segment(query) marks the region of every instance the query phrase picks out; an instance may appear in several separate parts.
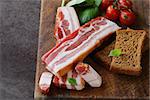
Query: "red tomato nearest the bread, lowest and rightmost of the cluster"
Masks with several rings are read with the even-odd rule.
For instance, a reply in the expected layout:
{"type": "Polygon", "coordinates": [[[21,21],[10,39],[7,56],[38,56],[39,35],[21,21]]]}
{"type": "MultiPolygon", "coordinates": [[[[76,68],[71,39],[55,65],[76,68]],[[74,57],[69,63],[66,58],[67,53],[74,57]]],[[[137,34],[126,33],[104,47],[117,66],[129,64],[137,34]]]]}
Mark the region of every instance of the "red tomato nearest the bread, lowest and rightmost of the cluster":
{"type": "Polygon", "coordinates": [[[136,16],[132,11],[122,10],[119,20],[122,25],[131,26],[134,24],[136,16]]]}

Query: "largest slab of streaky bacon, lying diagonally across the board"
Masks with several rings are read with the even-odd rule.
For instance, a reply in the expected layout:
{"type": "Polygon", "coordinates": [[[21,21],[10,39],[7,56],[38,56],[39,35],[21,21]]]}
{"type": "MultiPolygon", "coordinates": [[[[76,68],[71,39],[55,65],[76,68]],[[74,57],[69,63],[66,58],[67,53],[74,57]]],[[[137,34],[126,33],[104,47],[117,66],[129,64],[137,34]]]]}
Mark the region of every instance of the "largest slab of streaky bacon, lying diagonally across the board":
{"type": "Polygon", "coordinates": [[[120,27],[117,24],[104,17],[95,18],[69,34],[52,50],[46,53],[42,60],[47,64],[49,71],[58,75],[58,72],[63,71],[63,68],[82,61],[99,43],[103,42],[118,29],[120,27]],[[54,53],[57,55],[54,56],[54,53]],[[50,61],[49,58],[53,59],[50,61]]]}

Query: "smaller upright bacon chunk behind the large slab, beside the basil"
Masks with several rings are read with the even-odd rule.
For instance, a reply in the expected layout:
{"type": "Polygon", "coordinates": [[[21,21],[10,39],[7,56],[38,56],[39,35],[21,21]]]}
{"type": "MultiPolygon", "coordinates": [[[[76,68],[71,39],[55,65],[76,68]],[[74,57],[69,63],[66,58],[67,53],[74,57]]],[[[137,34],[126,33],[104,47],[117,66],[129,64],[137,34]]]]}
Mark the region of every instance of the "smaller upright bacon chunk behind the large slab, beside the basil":
{"type": "Polygon", "coordinates": [[[57,43],[80,27],[80,23],[73,7],[59,7],[57,9],[54,36],[57,43]]]}

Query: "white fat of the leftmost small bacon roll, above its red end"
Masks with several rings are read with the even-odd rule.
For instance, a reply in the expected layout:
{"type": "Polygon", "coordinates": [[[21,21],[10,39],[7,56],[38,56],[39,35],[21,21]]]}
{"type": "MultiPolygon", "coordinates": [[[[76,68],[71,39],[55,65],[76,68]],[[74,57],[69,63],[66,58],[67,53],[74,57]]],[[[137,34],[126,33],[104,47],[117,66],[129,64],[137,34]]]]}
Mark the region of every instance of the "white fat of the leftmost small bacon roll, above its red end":
{"type": "Polygon", "coordinates": [[[47,86],[50,87],[51,81],[52,81],[52,76],[53,76],[53,74],[51,74],[50,72],[43,72],[40,77],[39,85],[46,84],[47,86]]]}

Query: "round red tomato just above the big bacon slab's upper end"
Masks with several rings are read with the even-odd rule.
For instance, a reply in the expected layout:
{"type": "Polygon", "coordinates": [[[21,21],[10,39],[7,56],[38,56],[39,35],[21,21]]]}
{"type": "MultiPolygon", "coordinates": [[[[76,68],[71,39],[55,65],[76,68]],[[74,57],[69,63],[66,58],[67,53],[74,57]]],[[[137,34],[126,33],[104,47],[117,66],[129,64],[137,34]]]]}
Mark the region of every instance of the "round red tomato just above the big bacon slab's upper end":
{"type": "Polygon", "coordinates": [[[109,20],[116,21],[119,18],[120,11],[114,5],[110,5],[106,10],[105,17],[109,20]]]}

